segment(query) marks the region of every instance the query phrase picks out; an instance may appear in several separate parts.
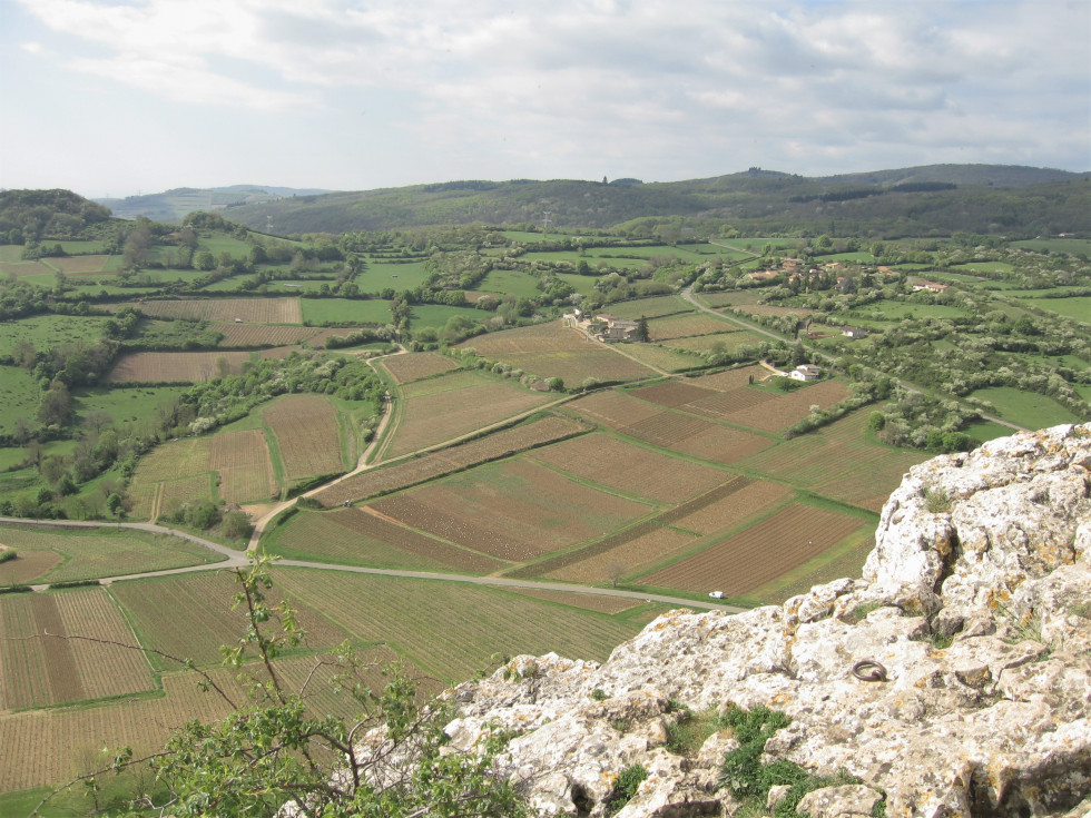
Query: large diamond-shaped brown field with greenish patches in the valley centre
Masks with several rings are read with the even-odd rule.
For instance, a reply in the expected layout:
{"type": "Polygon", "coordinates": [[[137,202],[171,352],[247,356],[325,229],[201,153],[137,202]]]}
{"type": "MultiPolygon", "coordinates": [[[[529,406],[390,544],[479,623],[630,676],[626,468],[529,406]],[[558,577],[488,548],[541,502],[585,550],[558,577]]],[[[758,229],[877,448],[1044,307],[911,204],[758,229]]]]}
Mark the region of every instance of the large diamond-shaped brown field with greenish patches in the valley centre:
{"type": "Polygon", "coordinates": [[[520,460],[479,466],[371,506],[410,528],[511,561],[601,535],[650,510],[520,460]]]}

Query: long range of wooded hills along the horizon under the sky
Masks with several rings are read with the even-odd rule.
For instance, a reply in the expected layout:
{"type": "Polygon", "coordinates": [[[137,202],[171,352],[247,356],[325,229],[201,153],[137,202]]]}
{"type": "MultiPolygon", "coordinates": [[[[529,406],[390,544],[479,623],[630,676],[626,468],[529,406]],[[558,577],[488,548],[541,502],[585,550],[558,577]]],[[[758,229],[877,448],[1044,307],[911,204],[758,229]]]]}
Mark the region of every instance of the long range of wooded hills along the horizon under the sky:
{"type": "Polygon", "coordinates": [[[751,167],[707,179],[648,183],[464,179],[400,188],[323,191],[256,185],[177,188],[97,199],[115,216],[180,223],[194,210],[279,235],[389,230],[436,225],[541,226],[558,230],[648,227],[680,235],[837,230],[877,238],[953,231],[1033,238],[1091,233],[1091,174],[1011,165],[927,165],[804,177],[751,167]]]}

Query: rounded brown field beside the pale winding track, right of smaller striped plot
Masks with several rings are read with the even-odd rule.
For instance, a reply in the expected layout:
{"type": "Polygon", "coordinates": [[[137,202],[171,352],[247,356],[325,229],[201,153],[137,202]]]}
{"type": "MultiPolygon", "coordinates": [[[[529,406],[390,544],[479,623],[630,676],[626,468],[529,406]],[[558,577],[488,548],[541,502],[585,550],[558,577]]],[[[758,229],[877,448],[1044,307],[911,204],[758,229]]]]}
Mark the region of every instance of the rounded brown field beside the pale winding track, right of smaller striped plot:
{"type": "Polygon", "coordinates": [[[262,413],[276,435],[288,480],[344,471],[337,411],[321,395],[288,395],[262,413]]]}

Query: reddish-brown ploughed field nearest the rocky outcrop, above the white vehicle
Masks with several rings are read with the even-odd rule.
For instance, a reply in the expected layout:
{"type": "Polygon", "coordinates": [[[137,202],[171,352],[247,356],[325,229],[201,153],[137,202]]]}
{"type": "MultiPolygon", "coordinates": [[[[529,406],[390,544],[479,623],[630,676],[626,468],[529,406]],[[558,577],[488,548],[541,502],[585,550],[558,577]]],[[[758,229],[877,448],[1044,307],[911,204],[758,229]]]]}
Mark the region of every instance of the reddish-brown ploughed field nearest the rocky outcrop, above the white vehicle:
{"type": "Polygon", "coordinates": [[[794,503],[735,536],[640,579],[660,588],[741,597],[871,523],[794,503]]]}

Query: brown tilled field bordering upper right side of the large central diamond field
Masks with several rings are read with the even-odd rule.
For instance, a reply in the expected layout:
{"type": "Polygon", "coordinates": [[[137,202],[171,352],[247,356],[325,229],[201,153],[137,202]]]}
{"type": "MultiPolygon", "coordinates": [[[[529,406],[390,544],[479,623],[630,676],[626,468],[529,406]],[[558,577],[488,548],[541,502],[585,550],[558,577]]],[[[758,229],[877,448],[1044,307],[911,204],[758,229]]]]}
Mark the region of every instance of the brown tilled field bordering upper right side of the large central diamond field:
{"type": "Polygon", "coordinates": [[[530,455],[580,480],[660,503],[679,503],[719,485],[729,475],[603,434],[589,434],[530,455]]]}

